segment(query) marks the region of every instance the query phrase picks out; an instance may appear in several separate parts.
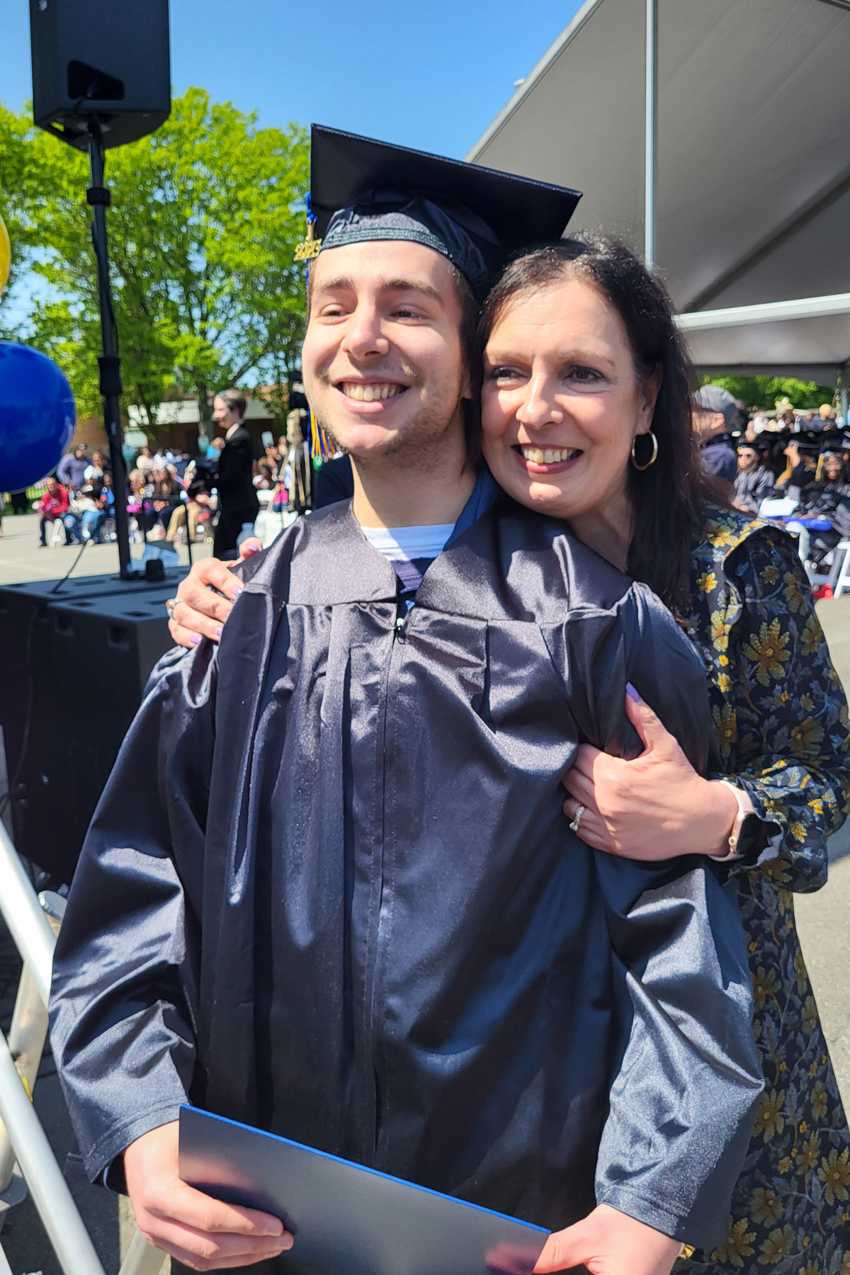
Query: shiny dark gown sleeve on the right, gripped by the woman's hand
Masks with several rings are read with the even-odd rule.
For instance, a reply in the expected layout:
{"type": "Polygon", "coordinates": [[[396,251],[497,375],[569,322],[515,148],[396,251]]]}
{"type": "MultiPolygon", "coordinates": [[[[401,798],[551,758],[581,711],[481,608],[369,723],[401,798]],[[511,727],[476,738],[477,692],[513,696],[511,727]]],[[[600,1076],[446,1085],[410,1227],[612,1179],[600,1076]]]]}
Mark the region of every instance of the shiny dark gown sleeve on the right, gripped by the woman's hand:
{"type": "MultiPolygon", "coordinates": [[[[623,727],[628,680],[705,773],[705,666],[642,586],[630,592],[621,622],[624,649],[622,636],[607,635],[594,650],[591,742],[640,751],[623,727]]],[[[586,657],[586,638],[582,648],[586,657]]],[[[737,899],[693,857],[658,864],[596,853],[595,867],[623,1024],[596,1200],[684,1243],[712,1246],[726,1232],[762,1089],[737,899]]]]}

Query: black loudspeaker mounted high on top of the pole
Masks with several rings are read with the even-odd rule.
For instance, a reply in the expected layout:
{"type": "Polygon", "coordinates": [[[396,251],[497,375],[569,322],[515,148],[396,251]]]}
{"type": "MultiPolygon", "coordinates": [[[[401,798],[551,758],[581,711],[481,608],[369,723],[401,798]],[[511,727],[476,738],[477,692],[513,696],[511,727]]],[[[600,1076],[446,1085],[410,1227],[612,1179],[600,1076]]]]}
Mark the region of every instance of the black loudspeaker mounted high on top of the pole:
{"type": "Polygon", "coordinates": [[[168,0],[29,0],[36,124],[85,150],[97,117],[104,147],[168,119],[168,0]]]}

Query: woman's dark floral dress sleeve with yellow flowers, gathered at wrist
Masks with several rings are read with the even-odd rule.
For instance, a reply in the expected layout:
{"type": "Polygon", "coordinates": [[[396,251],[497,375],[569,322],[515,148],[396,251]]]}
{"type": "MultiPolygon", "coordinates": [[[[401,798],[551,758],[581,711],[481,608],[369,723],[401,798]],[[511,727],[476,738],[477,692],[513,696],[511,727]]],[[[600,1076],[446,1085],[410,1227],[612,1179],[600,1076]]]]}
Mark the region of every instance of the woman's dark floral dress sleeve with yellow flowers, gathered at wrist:
{"type": "Polygon", "coordinates": [[[817,890],[827,836],[850,810],[847,703],[793,542],[765,529],[733,552],[730,609],[715,626],[729,672],[714,706],[723,768],[711,778],[733,779],[779,826],[761,870],[786,889],[817,890]]]}

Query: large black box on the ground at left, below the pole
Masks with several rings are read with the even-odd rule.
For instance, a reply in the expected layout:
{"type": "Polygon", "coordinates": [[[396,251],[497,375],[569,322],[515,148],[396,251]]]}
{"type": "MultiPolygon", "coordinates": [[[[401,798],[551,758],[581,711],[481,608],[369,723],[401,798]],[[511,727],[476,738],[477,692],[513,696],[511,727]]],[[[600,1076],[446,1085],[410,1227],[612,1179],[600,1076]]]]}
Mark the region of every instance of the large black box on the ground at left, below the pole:
{"type": "Polygon", "coordinates": [[[162,584],[101,576],[0,589],[0,724],[15,845],[70,881],[98,797],[172,645],[162,584]]]}

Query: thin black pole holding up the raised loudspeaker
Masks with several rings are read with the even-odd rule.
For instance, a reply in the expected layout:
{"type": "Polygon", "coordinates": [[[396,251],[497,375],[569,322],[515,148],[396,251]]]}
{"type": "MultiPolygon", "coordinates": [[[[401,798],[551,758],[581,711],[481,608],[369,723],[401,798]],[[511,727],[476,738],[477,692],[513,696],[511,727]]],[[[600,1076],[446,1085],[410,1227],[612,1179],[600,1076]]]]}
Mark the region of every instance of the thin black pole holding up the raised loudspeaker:
{"type": "Polygon", "coordinates": [[[124,463],[124,431],[121,430],[121,360],[117,353],[112,291],[110,287],[110,258],[106,240],[106,209],[111,193],[103,184],[103,136],[97,120],[89,121],[88,156],[92,185],[85,198],[92,205],[92,242],[97,261],[97,291],[101,309],[101,342],[103,353],[98,356],[101,368],[101,394],[103,395],[103,426],[110,440],[112,490],[115,492],[115,530],[119,542],[119,567],[122,580],[135,579],[130,569],[130,525],[127,523],[127,472],[124,463]]]}

